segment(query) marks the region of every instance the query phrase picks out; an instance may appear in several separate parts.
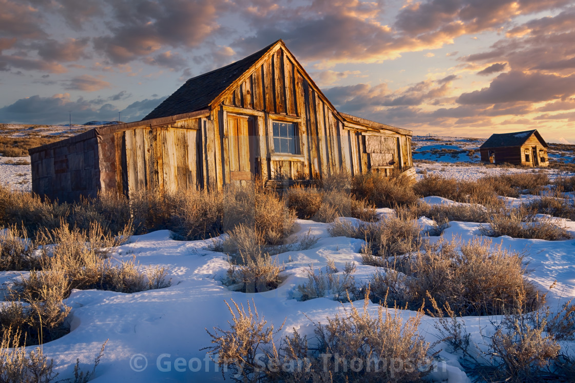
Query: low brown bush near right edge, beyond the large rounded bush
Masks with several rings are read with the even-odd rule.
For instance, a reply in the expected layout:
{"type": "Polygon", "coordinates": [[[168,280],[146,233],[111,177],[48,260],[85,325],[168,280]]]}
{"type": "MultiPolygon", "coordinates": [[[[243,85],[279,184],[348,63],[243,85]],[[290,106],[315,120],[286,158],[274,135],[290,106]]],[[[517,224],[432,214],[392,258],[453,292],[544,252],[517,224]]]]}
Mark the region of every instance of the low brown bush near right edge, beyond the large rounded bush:
{"type": "Polygon", "coordinates": [[[534,211],[525,206],[492,211],[489,226],[480,226],[481,234],[489,237],[509,235],[513,238],[558,241],[571,238],[565,227],[549,218],[536,218],[534,211]]]}

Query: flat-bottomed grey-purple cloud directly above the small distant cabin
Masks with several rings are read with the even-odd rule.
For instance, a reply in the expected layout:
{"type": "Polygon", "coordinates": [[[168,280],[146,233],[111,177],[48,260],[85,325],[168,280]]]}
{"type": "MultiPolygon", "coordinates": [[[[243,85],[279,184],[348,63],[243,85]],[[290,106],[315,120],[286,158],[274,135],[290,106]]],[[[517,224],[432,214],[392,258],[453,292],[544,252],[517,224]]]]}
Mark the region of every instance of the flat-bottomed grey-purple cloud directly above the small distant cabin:
{"type": "Polygon", "coordinates": [[[557,76],[511,71],[501,73],[489,87],[463,93],[460,104],[496,104],[501,102],[540,102],[575,94],[575,75],[557,76]]]}

